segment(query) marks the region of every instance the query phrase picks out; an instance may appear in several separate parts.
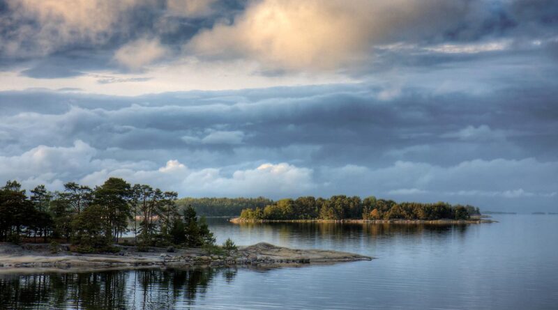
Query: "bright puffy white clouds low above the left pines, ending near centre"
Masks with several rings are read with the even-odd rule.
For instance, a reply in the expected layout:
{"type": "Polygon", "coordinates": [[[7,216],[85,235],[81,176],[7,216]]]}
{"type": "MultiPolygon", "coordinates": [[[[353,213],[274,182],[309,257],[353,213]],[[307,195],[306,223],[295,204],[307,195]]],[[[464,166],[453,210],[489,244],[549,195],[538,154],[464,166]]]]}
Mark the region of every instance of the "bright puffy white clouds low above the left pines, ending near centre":
{"type": "Polygon", "coordinates": [[[312,169],[287,163],[260,164],[228,174],[221,168],[190,169],[178,160],[168,160],[159,168],[145,162],[100,160],[97,153],[83,141],[75,141],[73,146],[38,146],[21,155],[0,156],[0,181],[19,180],[27,189],[45,184],[56,190],[68,181],[95,186],[118,177],[175,190],[181,196],[278,197],[303,194],[316,187],[312,169]]]}

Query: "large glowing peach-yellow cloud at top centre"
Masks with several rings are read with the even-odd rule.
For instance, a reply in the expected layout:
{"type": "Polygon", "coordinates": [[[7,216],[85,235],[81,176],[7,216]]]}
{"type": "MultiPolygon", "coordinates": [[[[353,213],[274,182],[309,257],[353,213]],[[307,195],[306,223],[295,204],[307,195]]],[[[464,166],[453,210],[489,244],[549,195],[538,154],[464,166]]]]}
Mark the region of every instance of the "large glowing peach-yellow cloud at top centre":
{"type": "Polygon", "coordinates": [[[209,57],[236,53],[283,70],[338,69],[368,59],[372,45],[390,36],[435,29],[464,9],[437,0],[253,1],[233,24],[216,24],[187,47],[209,57]],[[432,22],[427,15],[439,18],[432,22]]]}

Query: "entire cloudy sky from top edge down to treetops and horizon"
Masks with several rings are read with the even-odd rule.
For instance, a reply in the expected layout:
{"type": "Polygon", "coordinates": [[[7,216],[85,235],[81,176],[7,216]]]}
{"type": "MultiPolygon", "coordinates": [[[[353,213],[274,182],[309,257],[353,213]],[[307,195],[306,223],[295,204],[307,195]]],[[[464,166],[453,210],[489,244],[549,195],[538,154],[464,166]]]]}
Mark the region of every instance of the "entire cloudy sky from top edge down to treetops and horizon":
{"type": "Polygon", "coordinates": [[[558,211],[558,1],[0,0],[0,182],[558,211]]]}

